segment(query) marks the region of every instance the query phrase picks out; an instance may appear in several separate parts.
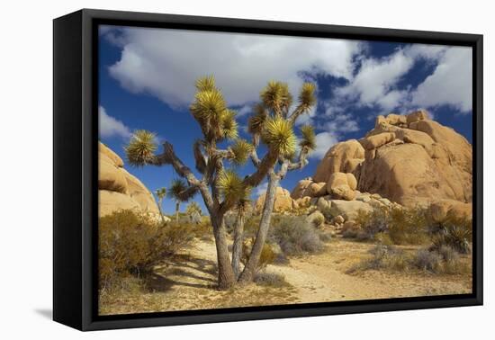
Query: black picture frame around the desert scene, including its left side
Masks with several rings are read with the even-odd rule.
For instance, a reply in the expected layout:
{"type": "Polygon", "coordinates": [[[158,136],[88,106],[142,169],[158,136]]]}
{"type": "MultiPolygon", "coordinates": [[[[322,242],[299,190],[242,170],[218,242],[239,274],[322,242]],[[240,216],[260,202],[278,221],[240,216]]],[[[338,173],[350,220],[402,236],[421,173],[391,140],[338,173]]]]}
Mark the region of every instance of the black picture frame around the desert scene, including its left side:
{"type": "Polygon", "coordinates": [[[83,9],[53,21],[53,318],[80,330],[482,305],[482,35],[83,9]],[[473,48],[473,293],[97,315],[98,24],[473,48]]]}

